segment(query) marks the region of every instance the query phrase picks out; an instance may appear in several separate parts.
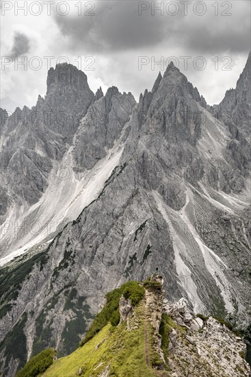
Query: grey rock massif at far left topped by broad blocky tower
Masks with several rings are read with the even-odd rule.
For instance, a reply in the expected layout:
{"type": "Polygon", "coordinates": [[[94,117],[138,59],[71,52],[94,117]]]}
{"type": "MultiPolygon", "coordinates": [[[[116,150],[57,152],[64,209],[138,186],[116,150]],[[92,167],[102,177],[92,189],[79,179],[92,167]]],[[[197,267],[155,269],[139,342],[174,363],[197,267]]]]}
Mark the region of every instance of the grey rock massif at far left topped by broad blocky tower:
{"type": "Polygon", "coordinates": [[[9,199],[1,212],[13,210],[13,201],[19,206],[38,202],[53,163],[64,156],[93,100],[85,73],[71,64],[57,64],[48,72],[47,95],[39,96],[36,106],[16,108],[10,117],[1,112],[1,180],[9,199]]]}

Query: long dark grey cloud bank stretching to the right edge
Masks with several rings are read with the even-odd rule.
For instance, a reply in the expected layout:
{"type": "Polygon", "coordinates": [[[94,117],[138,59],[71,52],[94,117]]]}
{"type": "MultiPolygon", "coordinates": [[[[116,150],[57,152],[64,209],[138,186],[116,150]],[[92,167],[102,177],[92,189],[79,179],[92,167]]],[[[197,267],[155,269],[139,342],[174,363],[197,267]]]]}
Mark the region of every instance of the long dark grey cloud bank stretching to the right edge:
{"type": "MultiPolygon", "coordinates": [[[[250,49],[250,1],[232,1],[229,10],[224,5],[229,2],[218,1],[218,15],[212,2],[206,1],[207,11],[202,16],[194,14],[193,3],[189,5],[187,16],[179,0],[175,1],[179,5],[176,16],[167,14],[166,8],[163,16],[159,11],[152,15],[153,2],[145,3],[150,8],[142,11],[141,16],[138,1],[103,0],[95,2],[94,16],[56,14],[55,21],[72,51],[83,48],[90,53],[109,53],[157,47],[168,42],[200,54],[241,53],[250,49]],[[224,13],[231,15],[224,16],[224,13]]],[[[201,12],[200,8],[196,11],[201,12]]]]}

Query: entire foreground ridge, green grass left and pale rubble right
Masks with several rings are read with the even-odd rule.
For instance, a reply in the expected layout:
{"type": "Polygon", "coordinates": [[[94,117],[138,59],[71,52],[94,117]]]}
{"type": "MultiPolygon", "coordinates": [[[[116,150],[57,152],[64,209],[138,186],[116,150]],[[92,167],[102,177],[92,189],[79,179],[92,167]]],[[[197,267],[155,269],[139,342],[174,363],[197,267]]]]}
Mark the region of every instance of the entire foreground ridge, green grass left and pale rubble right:
{"type": "MultiPolygon", "coordinates": [[[[110,292],[98,316],[100,322],[109,306],[111,323],[104,322],[81,348],[54,361],[42,376],[248,377],[241,338],[213,317],[190,313],[183,298],[163,302],[161,284],[163,279],[153,275],[143,284],[128,282],[110,292]],[[120,315],[114,321],[117,307],[120,315]]],[[[18,377],[27,376],[32,367],[30,362],[18,377]]]]}

